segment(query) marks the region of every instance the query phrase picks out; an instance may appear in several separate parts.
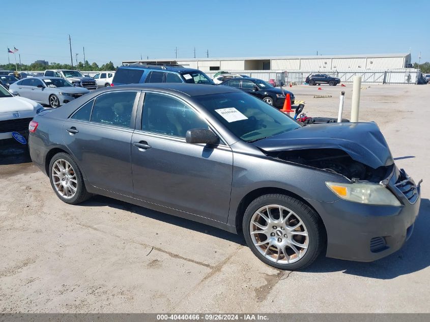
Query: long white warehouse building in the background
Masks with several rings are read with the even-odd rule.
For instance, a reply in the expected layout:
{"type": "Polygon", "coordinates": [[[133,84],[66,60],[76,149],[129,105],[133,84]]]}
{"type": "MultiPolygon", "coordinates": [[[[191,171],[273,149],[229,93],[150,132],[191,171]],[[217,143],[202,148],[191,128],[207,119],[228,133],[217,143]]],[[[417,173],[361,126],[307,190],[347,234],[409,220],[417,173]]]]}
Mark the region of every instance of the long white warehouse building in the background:
{"type": "Polygon", "coordinates": [[[182,65],[199,69],[210,77],[218,71],[228,71],[283,82],[303,82],[311,73],[336,75],[343,82],[350,82],[354,75],[361,75],[364,83],[415,83],[419,76],[418,70],[412,69],[410,53],[123,61],[123,65],[148,63],[182,65]]]}

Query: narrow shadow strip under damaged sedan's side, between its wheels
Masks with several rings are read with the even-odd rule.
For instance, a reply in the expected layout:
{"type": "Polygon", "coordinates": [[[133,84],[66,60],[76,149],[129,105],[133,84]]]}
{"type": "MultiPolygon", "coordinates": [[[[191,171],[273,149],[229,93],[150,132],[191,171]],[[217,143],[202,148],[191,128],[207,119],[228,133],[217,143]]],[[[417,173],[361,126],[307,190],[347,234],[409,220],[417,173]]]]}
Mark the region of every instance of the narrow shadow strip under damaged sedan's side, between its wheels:
{"type": "Polygon", "coordinates": [[[108,206],[114,209],[125,210],[133,214],[156,219],[171,225],[183,227],[183,228],[194,230],[201,233],[206,233],[207,235],[225,239],[227,241],[236,243],[238,245],[246,245],[243,237],[236,235],[235,233],[231,233],[226,230],[205,225],[189,219],[158,212],[149,208],[135,206],[132,203],[128,203],[117,199],[112,199],[105,196],[96,195],[91,199],[85,202],[82,202],[81,204],[79,204],[79,206],[91,206],[91,207],[108,206]]]}

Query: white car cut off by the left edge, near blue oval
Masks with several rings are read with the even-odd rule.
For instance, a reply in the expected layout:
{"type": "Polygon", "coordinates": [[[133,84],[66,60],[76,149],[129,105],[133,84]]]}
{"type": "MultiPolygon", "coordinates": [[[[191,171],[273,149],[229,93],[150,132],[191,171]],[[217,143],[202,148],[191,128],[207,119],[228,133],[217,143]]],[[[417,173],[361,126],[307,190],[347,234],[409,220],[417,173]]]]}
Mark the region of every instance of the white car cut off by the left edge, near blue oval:
{"type": "MultiPolygon", "coordinates": [[[[24,97],[13,96],[0,85],[0,140],[15,137],[19,140],[20,135],[28,134],[28,123],[33,120],[38,110],[43,107],[35,101],[24,97]]],[[[21,143],[23,143],[21,141],[21,143]]]]}

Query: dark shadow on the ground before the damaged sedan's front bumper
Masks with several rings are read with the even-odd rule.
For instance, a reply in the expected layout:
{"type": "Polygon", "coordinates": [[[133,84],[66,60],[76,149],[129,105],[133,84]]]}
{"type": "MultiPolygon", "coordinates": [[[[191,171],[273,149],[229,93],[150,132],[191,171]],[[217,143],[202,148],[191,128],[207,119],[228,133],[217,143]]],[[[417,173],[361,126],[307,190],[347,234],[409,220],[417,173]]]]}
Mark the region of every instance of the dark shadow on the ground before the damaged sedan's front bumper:
{"type": "Polygon", "coordinates": [[[430,200],[421,199],[419,215],[411,238],[397,252],[373,262],[356,262],[320,256],[303,272],[344,274],[376,279],[393,279],[430,266],[430,200]]]}

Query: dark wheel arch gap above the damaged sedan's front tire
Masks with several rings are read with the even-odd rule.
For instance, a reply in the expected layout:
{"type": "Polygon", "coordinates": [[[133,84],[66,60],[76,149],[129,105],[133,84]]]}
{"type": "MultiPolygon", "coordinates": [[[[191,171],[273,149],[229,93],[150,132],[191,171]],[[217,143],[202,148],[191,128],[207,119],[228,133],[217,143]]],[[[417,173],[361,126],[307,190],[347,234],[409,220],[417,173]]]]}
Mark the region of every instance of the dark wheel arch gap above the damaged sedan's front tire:
{"type": "MultiPolygon", "coordinates": [[[[254,190],[248,192],[242,198],[242,200],[239,202],[239,206],[236,210],[235,225],[236,225],[236,231],[238,234],[240,234],[240,235],[242,234],[243,216],[245,214],[246,208],[249,206],[249,204],[252,202],[252,200],[254,200],[254,199],[256,199],[262,195],[271,194],[271,193],[279,193],[279,194],[288,195],[288,196],[294,197],[294,198],[300,200],[301,202],[303,202],[304,204],[306,204],[306,206],[311,208],[321,218],[321,223],[324,227],[324,233],[327,236],[327,228],[326,228],[326,225],[324,224],[323,218],[320,216],[318,211],[314,207],[312,207],[312,205],[306,199],[302,198],[301,196],[299,196],[299,195],[297,195],[294,192],[291,192],[289,190],[282,189],[282,188],[274,188],[274,187],[264,187],[264,188],[254,189],[254,190]]],[[[326,240],[327,240],[327,238],[326,238],[326,240]]]]}

